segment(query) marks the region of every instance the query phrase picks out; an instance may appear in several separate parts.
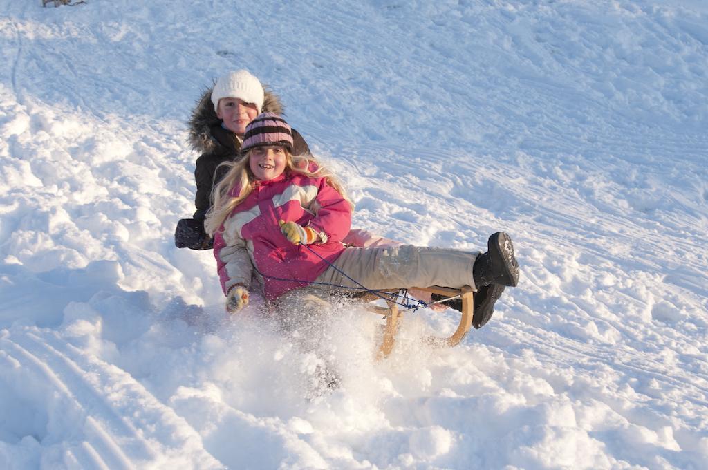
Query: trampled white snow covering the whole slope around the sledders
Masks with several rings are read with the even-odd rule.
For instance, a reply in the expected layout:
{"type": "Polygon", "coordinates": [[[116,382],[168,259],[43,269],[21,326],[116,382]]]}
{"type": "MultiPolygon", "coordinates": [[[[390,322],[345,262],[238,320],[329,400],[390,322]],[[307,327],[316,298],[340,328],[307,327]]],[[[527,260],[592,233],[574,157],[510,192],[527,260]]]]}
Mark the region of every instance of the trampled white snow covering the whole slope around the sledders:
{"type": "Polygon", "coordinates": [[[706,468],[706,2],[0,11],[0,468],[706,468]],[[487,326],[430,350],[457,319],[418,311],[375,362],[356,305],[314,352],[255,306],[225,316],[211,252],[172,234],[185,121],[239,68],[356,227],[511,234],[522,279],[487,326]],[[308,400],[321,360],[343,384],[308,400]]]}

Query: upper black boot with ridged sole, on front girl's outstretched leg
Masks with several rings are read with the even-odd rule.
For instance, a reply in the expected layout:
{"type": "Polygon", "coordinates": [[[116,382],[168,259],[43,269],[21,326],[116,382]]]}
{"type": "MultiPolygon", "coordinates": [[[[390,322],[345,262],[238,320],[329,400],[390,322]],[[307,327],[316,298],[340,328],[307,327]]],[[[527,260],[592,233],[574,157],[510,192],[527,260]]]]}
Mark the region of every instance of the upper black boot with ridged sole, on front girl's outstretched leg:
{"type": "Polygon", "coordinates": [[[519,283],[519,263],[514,257],[514,246],[503,231],[489,237],[487,252],[474,261],[472,277],[477,290],[490,284],[516,287],[519,283]]]}

